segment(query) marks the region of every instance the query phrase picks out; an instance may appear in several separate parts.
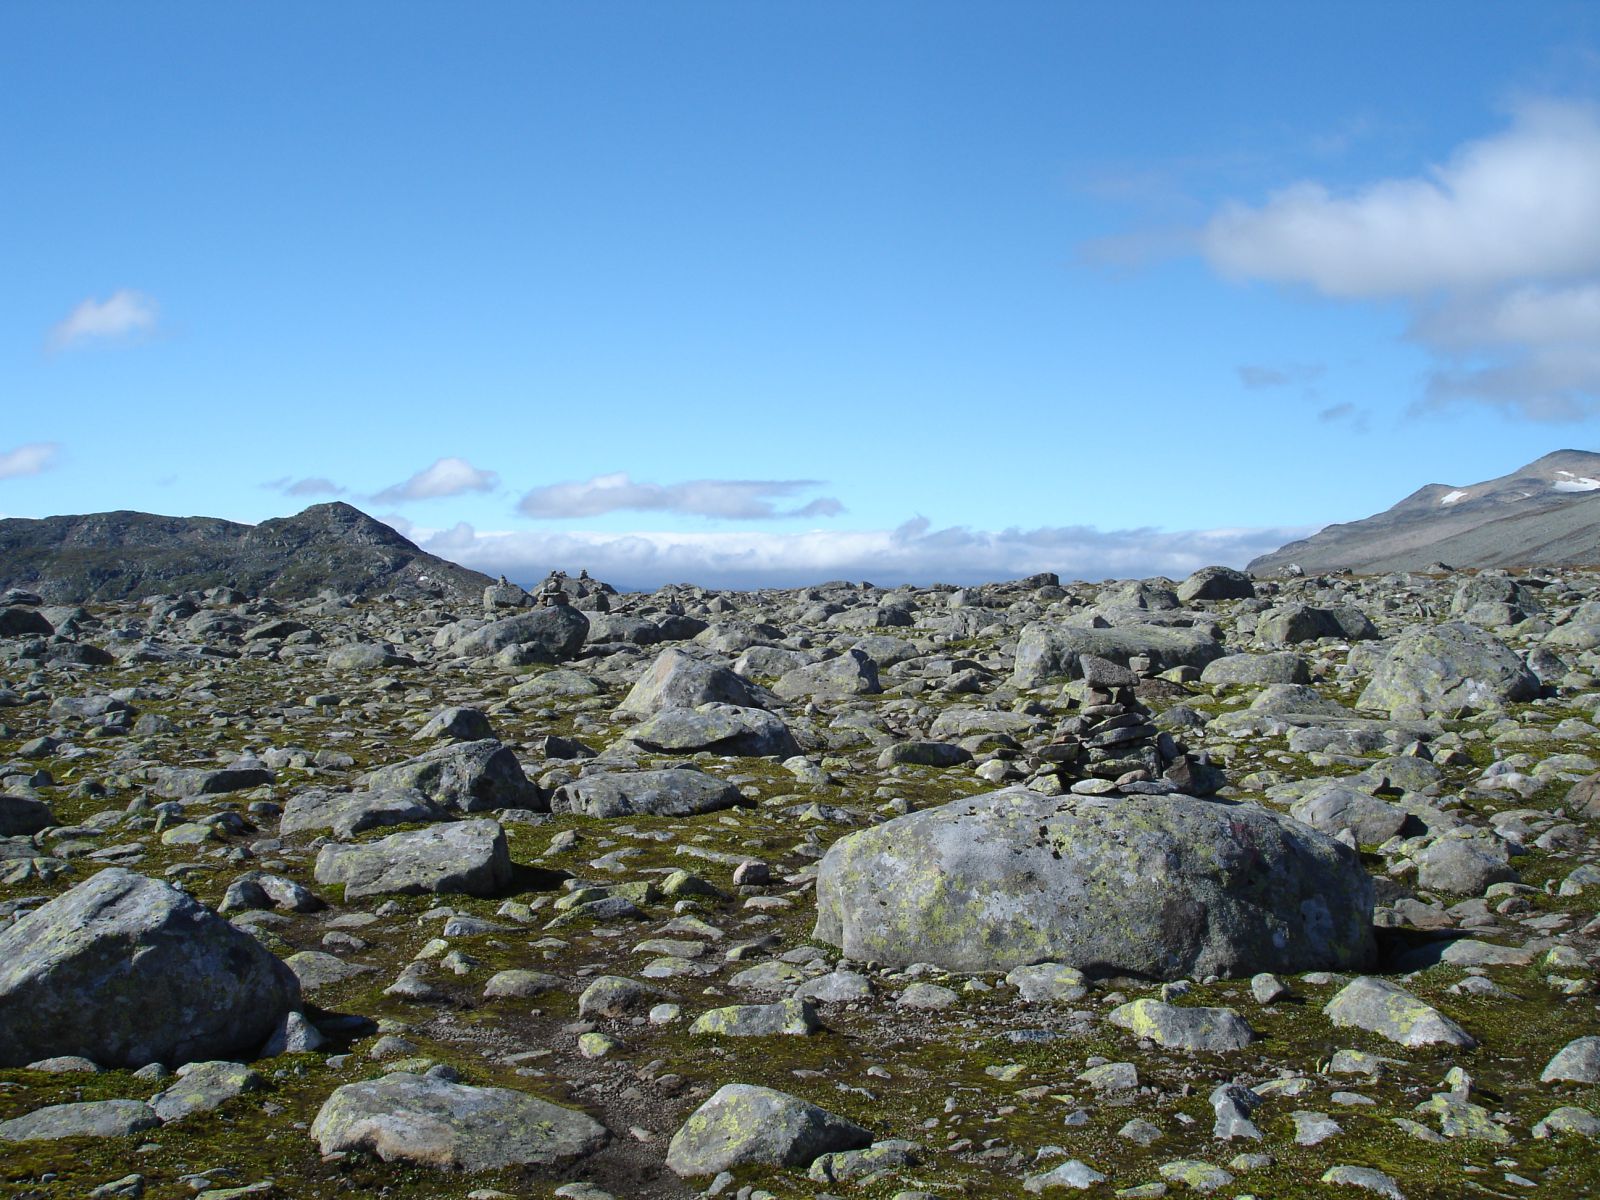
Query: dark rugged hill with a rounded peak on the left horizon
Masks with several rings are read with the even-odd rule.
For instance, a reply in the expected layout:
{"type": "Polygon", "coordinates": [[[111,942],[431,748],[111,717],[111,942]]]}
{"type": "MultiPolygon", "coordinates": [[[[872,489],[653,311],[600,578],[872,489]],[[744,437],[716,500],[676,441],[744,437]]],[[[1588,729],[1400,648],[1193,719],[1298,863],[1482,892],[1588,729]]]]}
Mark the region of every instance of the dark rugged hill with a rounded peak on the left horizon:
{"type": "Polygon", "coordinates": [[[221,586],[282,598],[331,589],[461,600],[490,582],[342,502],[261,525],[149,512],[0,520],[0,589],[38,592],[51,603],[221,586]]]}

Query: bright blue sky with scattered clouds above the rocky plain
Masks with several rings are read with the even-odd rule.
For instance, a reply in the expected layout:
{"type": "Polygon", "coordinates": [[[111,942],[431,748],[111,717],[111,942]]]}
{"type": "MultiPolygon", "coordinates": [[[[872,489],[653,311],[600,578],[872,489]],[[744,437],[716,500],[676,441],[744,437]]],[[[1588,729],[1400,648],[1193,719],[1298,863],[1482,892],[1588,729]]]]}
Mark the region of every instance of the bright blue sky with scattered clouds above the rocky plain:
{"type": "Polygon", "coordinates": [[[1592,3],[0,6],[0,514],[1181,576],[1600,448],[1592,3]]]}

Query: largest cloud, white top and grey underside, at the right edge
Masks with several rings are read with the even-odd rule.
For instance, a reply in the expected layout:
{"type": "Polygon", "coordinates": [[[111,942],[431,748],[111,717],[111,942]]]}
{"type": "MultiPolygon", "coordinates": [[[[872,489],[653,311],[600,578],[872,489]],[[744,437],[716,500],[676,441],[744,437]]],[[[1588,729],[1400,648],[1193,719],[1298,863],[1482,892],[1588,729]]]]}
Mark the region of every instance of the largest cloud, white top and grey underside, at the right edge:
{"type": "Polygon", "coordinates": [[[1536,421],[1600,410],[1590,104],[1523,102],[1506,130],[1411,178],[1349,194],[1299,182],[1262,205],[1226,205],[1200,250],[1229,278],[1408,306],[1406,338],[1435,358],[1418,408],[1472,400],[1536,421]]]}

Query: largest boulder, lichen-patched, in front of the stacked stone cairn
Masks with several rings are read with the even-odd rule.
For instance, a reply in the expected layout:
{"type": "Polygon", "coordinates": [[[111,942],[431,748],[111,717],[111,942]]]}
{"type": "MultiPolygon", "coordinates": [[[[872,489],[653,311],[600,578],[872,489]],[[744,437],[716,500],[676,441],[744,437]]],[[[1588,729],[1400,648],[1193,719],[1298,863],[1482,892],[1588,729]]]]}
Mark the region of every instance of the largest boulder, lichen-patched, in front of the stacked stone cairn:
{"type": "Polygon", "coordinates": [[[1358,968],[1373,882],[1354,850],[1256,805],[1011,789],[840,838],[816,934],[846,957],[1091,974],[1358,968]]]}

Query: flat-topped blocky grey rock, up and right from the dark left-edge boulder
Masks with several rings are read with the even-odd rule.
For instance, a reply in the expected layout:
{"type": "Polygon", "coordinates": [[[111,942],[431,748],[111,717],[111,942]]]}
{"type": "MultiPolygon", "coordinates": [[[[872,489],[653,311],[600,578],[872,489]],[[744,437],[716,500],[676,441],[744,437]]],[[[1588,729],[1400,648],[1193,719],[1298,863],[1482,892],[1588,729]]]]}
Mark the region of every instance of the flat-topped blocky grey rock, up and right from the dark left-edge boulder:
{"type": "Polygon", "coordinates": [[[390,834],[354,846],[330,843],[317,853],[318,883],[342,883],[344,899],[400,893],[493,896],[510,883],[510,854],[498,821],[390,834]]]}

